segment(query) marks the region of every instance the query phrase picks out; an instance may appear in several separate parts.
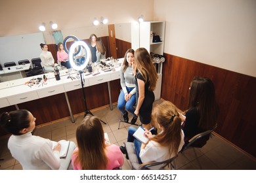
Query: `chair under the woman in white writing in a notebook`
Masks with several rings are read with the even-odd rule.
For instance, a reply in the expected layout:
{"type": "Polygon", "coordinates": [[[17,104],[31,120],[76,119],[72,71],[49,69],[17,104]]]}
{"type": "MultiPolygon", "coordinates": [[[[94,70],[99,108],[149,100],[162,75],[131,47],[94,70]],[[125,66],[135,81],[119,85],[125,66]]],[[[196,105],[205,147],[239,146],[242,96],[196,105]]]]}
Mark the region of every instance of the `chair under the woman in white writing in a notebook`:
{"type": "Polygon", "coordinates": [[[158,169],[162,170],[165,167],[170,167],[170,169],[176,169],[175,159],[177,156],[173,158],[167,159],[165,161],[156,162],[150,161],[147,163],[140,164],[137,158],[137,154],[135,152],[135,146],[133,142],[126,142],[125,144],[127,154],[129,156],[129,161],[131,162],[131,166],[133,170],[150,170],[150,169],[158,169]]]}

